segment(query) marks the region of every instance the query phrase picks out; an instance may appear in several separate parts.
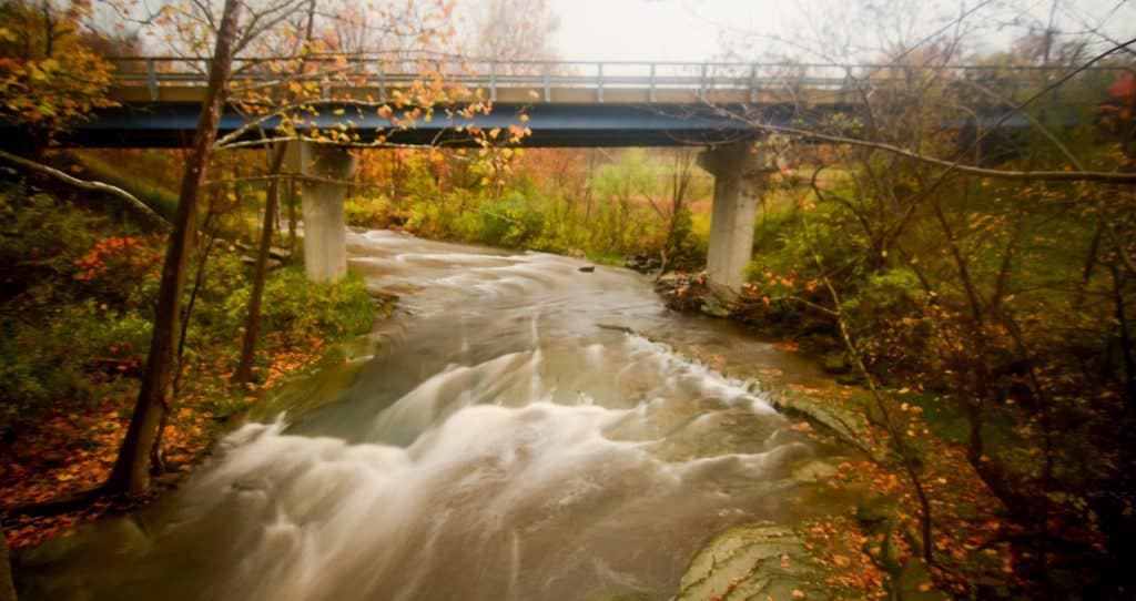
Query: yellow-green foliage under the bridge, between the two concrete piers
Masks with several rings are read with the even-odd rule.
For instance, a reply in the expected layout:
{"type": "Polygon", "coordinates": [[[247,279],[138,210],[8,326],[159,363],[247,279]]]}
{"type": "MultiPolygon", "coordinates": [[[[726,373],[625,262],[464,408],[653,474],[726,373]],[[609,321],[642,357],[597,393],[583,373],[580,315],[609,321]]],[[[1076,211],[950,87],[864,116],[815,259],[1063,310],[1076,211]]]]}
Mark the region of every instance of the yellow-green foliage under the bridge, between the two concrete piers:
{"type": "Polygon", "coordinates": [[[693,164],[686,204],[673,216],[670,155],[643,149],[605,153],[594,172],[575,172],[571,180],[562,174],[579,165],[565,157],[516,152],[515,160],[533,164],[512,167],[510,180],[499,190],[484,183],[492,169],[481,159],[446,164],[427,152],[387,155],[394,165],[371,170],[378,178],[393,178],[390,172],[395,170],[396,180],[349,199],[348,223],[586,256],[598,262],[620,264],[628,254],[663,251],[671,266],[699,268],[704,262],[709,217],[704,209],[691,210],[690,203],[709,197],[710,178],[693,164]],[[549,177],[546,169],[559,173],[549,177]]]}

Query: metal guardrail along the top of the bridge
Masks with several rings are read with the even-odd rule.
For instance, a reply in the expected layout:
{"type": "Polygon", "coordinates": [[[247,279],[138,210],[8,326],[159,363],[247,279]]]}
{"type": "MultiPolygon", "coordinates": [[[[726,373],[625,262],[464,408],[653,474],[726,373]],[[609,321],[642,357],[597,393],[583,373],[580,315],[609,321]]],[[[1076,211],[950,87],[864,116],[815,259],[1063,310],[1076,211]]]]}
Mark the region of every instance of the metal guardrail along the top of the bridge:
{"type": "MultiPolygon", "coordinates": [[[[147,86],[151,100],[169,86],[204,86],[207,59],[183,57],[117,57],[115,81],[123,86],[147,86]]],[[[274,82],[319,82],[327,97],[333,86],[369,87],[386,100],[387,91],[411,85],[424,77],[442,76],[467,89],[481,89],[498,99],[502,90],[527,90],[533,100],[551,102],[554,89],[590,90],[604,102],[613,90],[646,91],[657,102],[663,91],[692,92],[707,99],[719,91],[741,92],[749,99],[763,90],[838,92],[864,82],[884,85],[907,81],[911,74],[937,72],[951,80],[989,80],[1013,74],[1019,83],[1054,81],[1063,67],[1033,66],[919,66],[836,65],[791,62],[667,62],[463,59],[456,57],[325,56],[291,58],[239,58],[234,80],[247,87],[274,82]],[[289,70],[291,68],[291,72],[289,70]],[[300,68],[308,73],[296,74],[300,68]]],[[[1122,67],[1095,67],[1091,72],[1116,72],[1122,67]]]]}

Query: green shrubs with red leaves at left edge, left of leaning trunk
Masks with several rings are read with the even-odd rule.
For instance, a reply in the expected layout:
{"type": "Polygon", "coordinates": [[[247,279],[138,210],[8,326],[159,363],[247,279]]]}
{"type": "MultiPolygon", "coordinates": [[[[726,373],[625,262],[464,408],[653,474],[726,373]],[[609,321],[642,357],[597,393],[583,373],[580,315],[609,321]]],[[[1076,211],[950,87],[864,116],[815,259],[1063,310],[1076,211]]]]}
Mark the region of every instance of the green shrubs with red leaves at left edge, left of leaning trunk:
{"type": "Polygon", "coordinates": [[[151,239],[15,182],[0,184],[0,434],[45,409],[82,406],[124,386],[149,337],[151,239]],[[127,242],[128,241],[128,242],[127,242]],[[115,285],[110,285],[110,281],[115,285]]]}

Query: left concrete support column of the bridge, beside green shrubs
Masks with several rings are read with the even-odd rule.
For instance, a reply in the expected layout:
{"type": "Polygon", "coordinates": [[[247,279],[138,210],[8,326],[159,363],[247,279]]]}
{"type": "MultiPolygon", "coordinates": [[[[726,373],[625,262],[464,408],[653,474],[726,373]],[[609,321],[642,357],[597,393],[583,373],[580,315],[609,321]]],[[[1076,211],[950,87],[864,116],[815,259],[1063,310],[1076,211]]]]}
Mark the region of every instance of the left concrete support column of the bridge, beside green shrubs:
{"type": "Polygon", "coordinates": [[[308,279],[331,282],[348,270],[346,220],[343,201],[345,183],[354,173],[356,159],[346,150],[311,142],[287,142],[289,164],[304,180],[301,186],[303,211],[303,266],[308,279]]]}

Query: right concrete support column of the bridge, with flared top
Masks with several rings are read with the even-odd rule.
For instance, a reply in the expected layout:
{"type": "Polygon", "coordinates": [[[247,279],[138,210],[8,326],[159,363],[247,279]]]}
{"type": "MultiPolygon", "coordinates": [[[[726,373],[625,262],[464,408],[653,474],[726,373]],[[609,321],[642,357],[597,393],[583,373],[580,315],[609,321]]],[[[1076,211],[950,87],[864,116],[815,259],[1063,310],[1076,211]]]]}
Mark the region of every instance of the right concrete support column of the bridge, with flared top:
{"type": "Polygon", "coordinates": [[[715,177],[707,253],[710,290],[732,300],[745,283],[745,266],[753,254],[753,220],[766,181],[777,170],[776,157],[753,142],[735,142],[703,151],[699,166],[715,177]]]}

